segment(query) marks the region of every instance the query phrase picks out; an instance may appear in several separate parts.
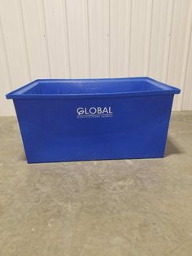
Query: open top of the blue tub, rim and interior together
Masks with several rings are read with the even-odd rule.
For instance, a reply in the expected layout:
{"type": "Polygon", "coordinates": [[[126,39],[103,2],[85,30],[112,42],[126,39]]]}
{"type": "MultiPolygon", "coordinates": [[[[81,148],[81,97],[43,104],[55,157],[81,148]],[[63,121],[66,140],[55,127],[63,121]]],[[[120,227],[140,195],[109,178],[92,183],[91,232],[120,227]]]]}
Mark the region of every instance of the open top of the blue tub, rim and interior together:
{"type": "Polygon", "coordinates": [[[178,94],[176,87],[167,86],[150,77],[102,79],[40,79],[7,94],[7,99],[45,97],[106,97],[107,95],[178,94]]]}

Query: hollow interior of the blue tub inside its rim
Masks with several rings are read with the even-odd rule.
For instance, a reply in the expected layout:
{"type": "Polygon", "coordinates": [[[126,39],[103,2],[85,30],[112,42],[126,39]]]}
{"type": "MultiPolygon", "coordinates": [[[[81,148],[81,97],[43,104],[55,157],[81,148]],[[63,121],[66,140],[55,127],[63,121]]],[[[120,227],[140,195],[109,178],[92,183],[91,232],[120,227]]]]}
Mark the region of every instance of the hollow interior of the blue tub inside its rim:
{"type": "Polygon", "coordinates": [[[146,81],[38,82],[24,94],[74,95],[111,94],[163,90],[146,81]]]}

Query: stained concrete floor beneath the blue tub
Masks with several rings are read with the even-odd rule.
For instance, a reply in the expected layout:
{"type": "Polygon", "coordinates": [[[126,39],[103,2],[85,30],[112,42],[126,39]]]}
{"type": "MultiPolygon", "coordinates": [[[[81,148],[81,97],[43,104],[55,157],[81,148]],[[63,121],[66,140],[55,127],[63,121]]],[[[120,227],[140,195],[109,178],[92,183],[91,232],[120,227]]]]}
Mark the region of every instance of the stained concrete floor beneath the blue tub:
{"type": "Polygon", "coordinates": [[[28,165],[0,118],[0,255],[192,255],[192,112],[163,159],[28,165]]]}

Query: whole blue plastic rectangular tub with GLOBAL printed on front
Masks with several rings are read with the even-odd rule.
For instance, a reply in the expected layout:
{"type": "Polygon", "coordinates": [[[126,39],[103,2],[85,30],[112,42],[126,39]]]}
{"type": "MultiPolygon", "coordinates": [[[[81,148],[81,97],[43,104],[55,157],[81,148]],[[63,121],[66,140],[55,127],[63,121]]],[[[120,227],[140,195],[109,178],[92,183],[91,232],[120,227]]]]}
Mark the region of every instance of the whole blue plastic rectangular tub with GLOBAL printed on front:
{"type": "Polygon", "coordinates": [[[174,94],[149,77],[36,80],[13,99],[28,163],[164,157],[174,94]]]}

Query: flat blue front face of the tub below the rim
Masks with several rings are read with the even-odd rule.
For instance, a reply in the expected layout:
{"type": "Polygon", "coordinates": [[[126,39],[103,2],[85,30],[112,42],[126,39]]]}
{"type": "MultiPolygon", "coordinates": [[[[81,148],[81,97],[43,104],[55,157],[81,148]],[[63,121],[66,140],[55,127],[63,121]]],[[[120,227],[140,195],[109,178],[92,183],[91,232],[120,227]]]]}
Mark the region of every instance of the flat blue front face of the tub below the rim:
{"type": "Polygon", "coordinates": [[[173,95],[15,99],[28,162],[163,157],[173,95]]]}

